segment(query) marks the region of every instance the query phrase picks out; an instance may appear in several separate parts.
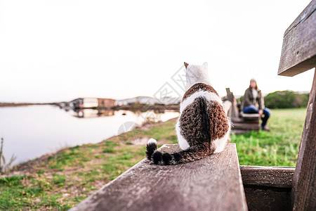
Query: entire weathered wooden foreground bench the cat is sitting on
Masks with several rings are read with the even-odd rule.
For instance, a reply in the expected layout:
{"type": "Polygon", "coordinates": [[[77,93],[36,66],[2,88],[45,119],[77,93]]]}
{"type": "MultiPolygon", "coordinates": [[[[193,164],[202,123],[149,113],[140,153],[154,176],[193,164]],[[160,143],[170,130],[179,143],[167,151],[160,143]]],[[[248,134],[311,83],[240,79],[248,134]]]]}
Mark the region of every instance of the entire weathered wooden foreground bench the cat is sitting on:
{"type": "MultiPolygon", "coordinates": [[[[315,11],[314,0],[284,33],[279,75],[315,68],[315,11]]],[[[316,210],[315,120],[316,74],[296,168],[239,167],[235,144],[229,143],[222,153],[184,165],[144,159],[71,210],[316,210]]]]}

